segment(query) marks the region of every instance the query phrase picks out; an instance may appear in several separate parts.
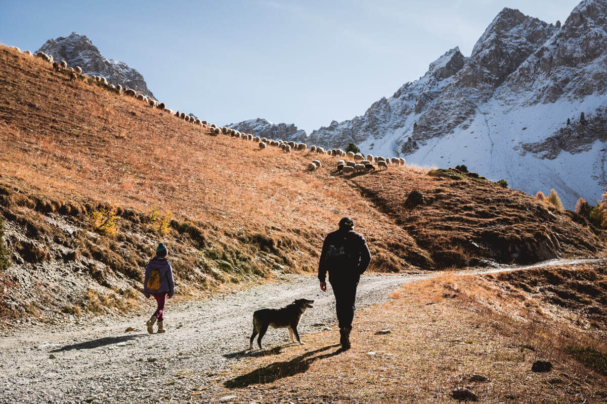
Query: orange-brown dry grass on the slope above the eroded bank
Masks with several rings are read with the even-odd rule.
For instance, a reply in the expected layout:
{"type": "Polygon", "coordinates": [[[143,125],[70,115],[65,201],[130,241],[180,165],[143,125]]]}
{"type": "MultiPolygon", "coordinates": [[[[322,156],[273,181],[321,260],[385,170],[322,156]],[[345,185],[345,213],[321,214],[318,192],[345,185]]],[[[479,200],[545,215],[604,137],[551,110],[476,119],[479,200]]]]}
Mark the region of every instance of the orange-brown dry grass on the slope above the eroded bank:
{"type": "Polygon", "coordinates": [[[315,267],[311,251],[345,215],[370,243],[372,270],[460,267],[489,254],[470,248],[468,239],[490,239],[498,248],[502,239],[524,245],[554,233],[569,254],[600,248],[597,237],[565,215],[546,222],[534,213],[537,202],[522,193],[430,177],[413,167],[337,176],[334,157],[261,151],[254,142],[208,136],[94,82],[69,82],[50,65],[5,47],[0,90],[1,182],[58,200],[101,200],[140,212],[161,207],[218,237],[296,240],[307,250],[297,256],[300,268],[315,267]],[[313,158],[323,167],[310,173],[313,158]],[[413,189],[432,204],[404,208],[413,189]]]}

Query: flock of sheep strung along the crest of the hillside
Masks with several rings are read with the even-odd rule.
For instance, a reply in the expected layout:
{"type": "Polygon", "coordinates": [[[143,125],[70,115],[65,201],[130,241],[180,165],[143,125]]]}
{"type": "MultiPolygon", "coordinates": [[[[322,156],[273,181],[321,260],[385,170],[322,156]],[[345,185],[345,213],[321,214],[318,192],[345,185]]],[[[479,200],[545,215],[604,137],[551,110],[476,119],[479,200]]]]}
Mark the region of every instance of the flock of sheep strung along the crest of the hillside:
{"type": "MultiPolygon", "coordinates": [[[[11,48],[21,53],[21,49],[19,49],[18,47],[11,48]]],[[[68,67],[66,61],[61,61],[57,63],[53,61],[53,56],[47,55],[42,51],[36,52],[35,55],[32,55],[32,52],[30,52],[29,50],[26,50],[23,53],[27,56],[35,56],[36,58],[40,58],[46,62],[49,62],[53,65],[53,69],[56,71],[61,71],[61,69],[71,71],[72,73],[70,75],[70,81],[74,81],[75,79],[77,79],[78,75],[83,75],[82,68],[80,66],[68,67]]],[[[83,76],[89,77],[86,75],[83,76]]],[[[173,111],[169,108],[166,108],[164,102],[158,102],[153,98],[148,98],[139,91],[135,91],[132,88],[123,88],[120,84],[108,84],[107,79],[104,77],[90,76],[89,79],[92,79],[96,82],[100,82],[101,84],[104,84],[107,87],[116,90],[119,94],[124,94],[126,96],[134,97],[140,101],[143,101],[152,108],[158,108],[160,110],[168,112],[171,115],[176,116],[177,118],[183,119],[186,122],[191,122],[194,125],[200,125],[200,127],[206,129],[211,136],[225,134],[231,137],[237,137],[239,139],[257,142],[257,145],[259,146],[260,150],[263,150],[266,147],[278,147],[284,153],[291,153],[291,151],[308,150],[308,146],[304,143],[284,142],[281,140],[266,139],[266,137],[253,136],[253,134],[250,133],[240,133],[239,131],[234,130],[232,128],[217,127],[217,125],[215,124],[208,124],[208,122],[201,121],[200,119],[195,118],[194,116],[190,116],[183,112],[180,113],[179,111],[173,111]]],[[[346,157],[348,161],[337,161],[337,172],[342,174],[375,171],[375,166],[373,165],[373,162],[377,164],[378,170],[381,170],[382,168],[386,170],[388,168],[388,165],[405,165],[405,159],[403,159],[402,157],[392,157],[390,159],[382,156],[372,156],[371,154],[367,154],[367,156],[364,156],[361,153],[353,153],[352,151],[348,151],[346,153],[344,150],[341,150],[339,148],[325,150],[324,147],[311,146],[309,149],[309,153],[326,154],[328,156],[335,157],[346,157]]],[[[308,163],[308,170],[310,171],[316,171],[320,167],[322,167],[322,164],[320,164],[320,161],[318,160],[313,160],[308,163]]]]}

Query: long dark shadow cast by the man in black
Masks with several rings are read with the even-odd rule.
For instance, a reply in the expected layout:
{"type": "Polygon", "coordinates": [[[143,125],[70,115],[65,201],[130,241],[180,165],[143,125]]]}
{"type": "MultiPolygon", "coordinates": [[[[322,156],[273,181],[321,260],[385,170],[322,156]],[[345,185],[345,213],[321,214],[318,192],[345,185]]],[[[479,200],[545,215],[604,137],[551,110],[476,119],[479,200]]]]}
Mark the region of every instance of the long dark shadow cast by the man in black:
{"type": "Polygon", "coordinates": [[[339,344],[328,345],[324,348],[307,352],[289,360],[288,362],[270,363],[270,365],[263,366],[263,368],[255,369],[254,371],[235,377],[234,379],[226,380],[223,385],[227,388],[242,388],[249,385],[271,383],[282,379],[283,377],[304,373],[310,368],[311,363],[314,361],[336,356],[344,352],[344,349],[340,347],[331,353],[314,356],[323,351],[327,351],[328,349],[335,348],[336,346],[339,346],[339,344]]]}

